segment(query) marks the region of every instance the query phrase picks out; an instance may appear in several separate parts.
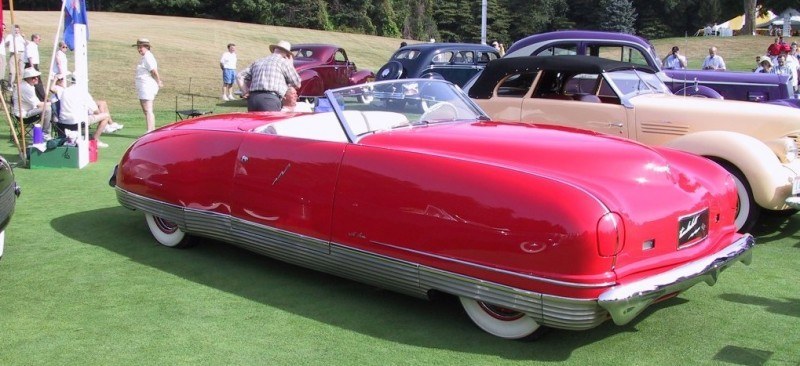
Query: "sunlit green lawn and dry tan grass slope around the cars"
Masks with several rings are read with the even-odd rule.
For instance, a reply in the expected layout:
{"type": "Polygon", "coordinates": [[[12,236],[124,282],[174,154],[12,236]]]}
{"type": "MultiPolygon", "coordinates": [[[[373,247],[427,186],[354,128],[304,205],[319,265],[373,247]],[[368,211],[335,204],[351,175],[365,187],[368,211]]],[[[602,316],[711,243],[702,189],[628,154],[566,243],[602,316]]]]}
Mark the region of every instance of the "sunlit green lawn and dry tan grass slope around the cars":
{"type": "MultiPolygon", "coordinates": [[[[52,40],[55,13],[16,16],[28,34],[52,40]],[[34,29],[36,22],[52,30],[34,29]]],[[[115,13],[90,14],[90,22],[92,91],[125,128],[103,138],[111,147],[85,169],[16,169],[23,193],[0,261],[0,365],[800,364],[797,215],[764,220],[753,264],[730,268],[714,287],[700,284],[626,326],[555,330],[532,343],[480,331],[448,299],[418,300],[214,241],[161,247],[143,215],[120,207],[107,184],[144,133],[133,90],[136,38],[153,41],[165,74],[159,125],[174,120],[175,95],[189,77],[193,91],[215,98],[208,101],[215,112],[243,109],[216,99],[218,58],[229,41],[240,45],[240,60],[283,38],[339,43],[375,70],[399,40],[115,13]]],[[[767,37],[654,43],[663,54],[690,42],[681,48],[698,66],[701,55],[691,50],[711,41],[741,67],[769,44],[767,37]]],[[[0,153],[16,160],[2,131],[0,153]]]]}

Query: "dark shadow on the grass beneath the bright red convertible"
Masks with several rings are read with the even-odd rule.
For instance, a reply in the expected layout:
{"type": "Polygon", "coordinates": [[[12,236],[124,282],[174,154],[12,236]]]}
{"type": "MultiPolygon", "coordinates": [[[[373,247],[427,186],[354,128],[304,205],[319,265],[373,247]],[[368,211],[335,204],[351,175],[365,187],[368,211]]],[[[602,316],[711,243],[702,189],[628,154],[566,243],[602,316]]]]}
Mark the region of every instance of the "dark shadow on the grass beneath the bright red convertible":
{"type": "MultiPolygon", "coordinates": [[[[553,330],[536,342],[522,343],[484,333],[453,297],[425,301],[214,240],[201,240],[197,247],[186,250],[161,246],[150,236],[143,215],[122,207],[62,216],[53,219],[51,226],[73,240],[159,271],[324,324],[402,344],[514,360],[567,360],[574,350],[588,344],[638,332],[636,325],[642,319],[688,301],[672,298],[655,304],[625,326],[607,321],[587,331],[553,330]],[[91,230],[86,229],[87,222],[93,223],[91,230]]],[[[652,336],[662,337],[663,329],[652,336]]]]}

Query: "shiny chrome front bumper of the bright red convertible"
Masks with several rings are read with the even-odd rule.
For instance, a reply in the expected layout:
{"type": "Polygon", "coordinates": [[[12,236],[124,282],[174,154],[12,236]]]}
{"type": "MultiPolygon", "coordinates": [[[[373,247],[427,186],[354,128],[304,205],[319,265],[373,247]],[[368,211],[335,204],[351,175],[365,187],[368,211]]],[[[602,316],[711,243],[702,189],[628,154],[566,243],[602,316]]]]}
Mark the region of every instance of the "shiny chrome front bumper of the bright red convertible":
{"type": "Polygon", "coordinates": [[[608,310],[617,325],[627,324],[662,296],[680,292],[704,281],[717,282],[719,273],[737,261],[750,264],[755,239],[745,234],[733,244],[710,256],[636,282],[612,287],[602,293],[597,303],[608,310]]]}

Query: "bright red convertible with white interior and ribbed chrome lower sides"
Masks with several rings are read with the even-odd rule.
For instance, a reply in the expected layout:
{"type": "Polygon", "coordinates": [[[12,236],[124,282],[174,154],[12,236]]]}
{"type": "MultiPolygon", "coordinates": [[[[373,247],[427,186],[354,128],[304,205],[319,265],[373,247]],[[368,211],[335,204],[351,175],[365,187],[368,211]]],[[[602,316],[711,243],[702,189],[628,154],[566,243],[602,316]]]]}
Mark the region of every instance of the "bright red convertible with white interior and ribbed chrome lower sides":
{"type": "Polygon", "coordinates": [[[480,328],[512,339],[626,324],[751,259],[735,183],[709,160],[493,122],[443,80],[326,97],[333,111],[165,126],[129,148],[110,184],[163,245],[214,238],[413,296],[457,296],[480,328]]]}

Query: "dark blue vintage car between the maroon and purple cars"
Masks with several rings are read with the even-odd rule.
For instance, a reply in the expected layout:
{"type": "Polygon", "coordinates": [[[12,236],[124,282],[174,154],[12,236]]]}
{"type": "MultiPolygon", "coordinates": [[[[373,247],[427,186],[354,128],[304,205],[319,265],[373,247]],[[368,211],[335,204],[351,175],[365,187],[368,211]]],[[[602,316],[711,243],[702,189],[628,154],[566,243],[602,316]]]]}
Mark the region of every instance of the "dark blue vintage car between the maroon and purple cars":
{"type": "Polygon", "coordinates": [[[497,58],[500,58],[497,50],[482,44],[412,44],[397,50],[378,70],[375,79],[433,78],[463,86],[489,61],[497,58]]]}

